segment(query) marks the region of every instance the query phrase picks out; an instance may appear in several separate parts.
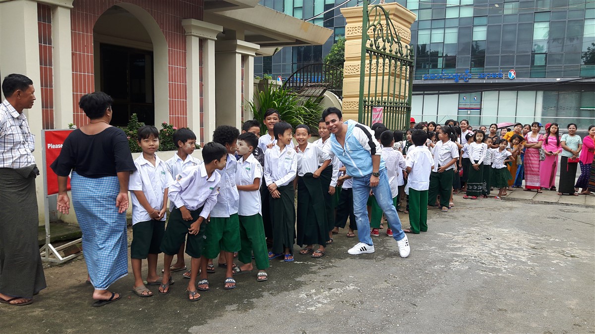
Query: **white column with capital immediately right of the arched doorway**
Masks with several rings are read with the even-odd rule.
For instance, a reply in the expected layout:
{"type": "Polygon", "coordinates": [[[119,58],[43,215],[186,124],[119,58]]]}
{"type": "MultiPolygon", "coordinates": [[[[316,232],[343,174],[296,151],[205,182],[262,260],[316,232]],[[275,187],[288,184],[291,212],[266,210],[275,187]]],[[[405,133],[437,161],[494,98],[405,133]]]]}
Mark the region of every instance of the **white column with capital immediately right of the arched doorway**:
{"type": "Polygon", "coordinates": [[[187,18],[182,20],[186,30],[186,77],[188,127],[197,137],[201,128],[201,74],[199,48],[202,42],[203,138],[211,141],[215,130],[215,40],[223,27],[187,18]]]}

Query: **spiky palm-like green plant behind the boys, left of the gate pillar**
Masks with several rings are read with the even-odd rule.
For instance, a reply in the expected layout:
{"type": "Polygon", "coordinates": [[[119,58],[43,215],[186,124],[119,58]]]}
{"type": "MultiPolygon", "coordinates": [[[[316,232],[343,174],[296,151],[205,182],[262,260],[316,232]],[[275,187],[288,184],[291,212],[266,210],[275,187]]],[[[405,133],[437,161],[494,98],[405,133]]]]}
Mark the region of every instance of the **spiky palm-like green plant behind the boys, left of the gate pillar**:
{"type": "Polygon", "coordinates": [[[255,92],[254,100],[248,102],[254,118],[261,122],[261,134],[267,133],[264,125],[264,113],[276,109],[283,121],[295,128],[305,124],[313,133],[318,131],[318,120],[322,114],[322,97],[303,97],[292,90],[283,89],[276,84],[265,84],[264,89],[255,92]]]}

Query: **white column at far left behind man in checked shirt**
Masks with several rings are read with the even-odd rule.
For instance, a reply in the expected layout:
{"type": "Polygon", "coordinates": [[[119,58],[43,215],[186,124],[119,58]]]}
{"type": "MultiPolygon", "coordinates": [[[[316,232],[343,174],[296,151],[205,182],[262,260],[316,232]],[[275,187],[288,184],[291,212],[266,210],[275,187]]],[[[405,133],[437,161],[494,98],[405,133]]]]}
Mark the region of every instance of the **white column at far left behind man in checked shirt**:
{"type": "MultiPolygon", "coordinates": [[[[39,74],[39,36],[37,2],[17,0],[0,2],[0,73],[2,79],[11,73],[23,74],[33,80],[37,100],[33,108],[25,109],[31,133],[35,135],[35,161],[41,175],[35,179],[39,222],[43,223],[43,179],[41,147],[41,91],[39,74]]],[[[0,79],[1,80],[1,79],[0,79]]]]}

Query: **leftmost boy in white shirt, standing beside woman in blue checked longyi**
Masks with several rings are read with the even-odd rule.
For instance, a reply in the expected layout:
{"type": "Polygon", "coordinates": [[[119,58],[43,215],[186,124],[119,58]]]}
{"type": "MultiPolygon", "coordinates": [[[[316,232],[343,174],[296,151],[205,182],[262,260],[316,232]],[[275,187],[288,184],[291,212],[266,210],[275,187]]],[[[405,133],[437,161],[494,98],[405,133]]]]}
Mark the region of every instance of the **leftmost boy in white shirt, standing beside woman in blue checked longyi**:
{"type": "Polygon", "coordinates": [[[142,279],[142,259],[148,261],[147,284],[159,285],[157,257],[165,232],[167,190],[171,182],[165,162],[155,152],[159,148],[159,131],[150,125],[137,131],[137,143],[143,153],[134,160],[136,171],[130,175],[128,189],[132,201],[132,244],[130,259],[134,274],[132,291],[139,297],[151,297],[142,279]]]}

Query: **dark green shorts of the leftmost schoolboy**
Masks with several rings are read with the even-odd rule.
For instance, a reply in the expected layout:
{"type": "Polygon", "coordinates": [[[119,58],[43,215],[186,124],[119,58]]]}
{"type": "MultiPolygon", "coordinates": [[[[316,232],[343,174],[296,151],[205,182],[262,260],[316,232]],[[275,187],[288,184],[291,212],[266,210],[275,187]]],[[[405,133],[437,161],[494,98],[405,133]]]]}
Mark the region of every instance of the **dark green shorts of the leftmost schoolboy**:
{"type": "Polygon", "coordinates": [[[159,254],[165,232],[165,221],[148,220],[132,225],[130,259],[146,259],[149,254],[159,254]]]}

